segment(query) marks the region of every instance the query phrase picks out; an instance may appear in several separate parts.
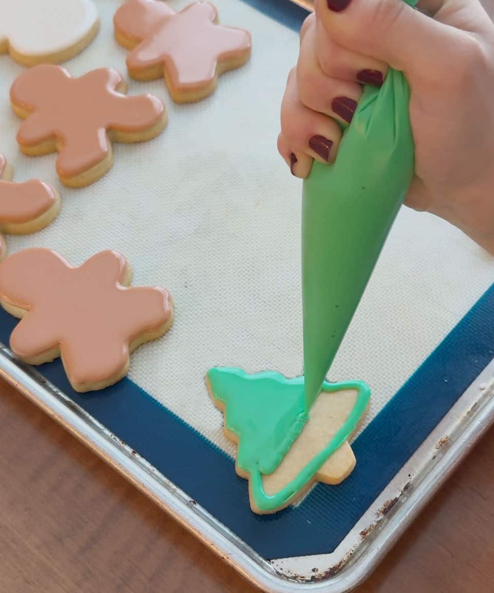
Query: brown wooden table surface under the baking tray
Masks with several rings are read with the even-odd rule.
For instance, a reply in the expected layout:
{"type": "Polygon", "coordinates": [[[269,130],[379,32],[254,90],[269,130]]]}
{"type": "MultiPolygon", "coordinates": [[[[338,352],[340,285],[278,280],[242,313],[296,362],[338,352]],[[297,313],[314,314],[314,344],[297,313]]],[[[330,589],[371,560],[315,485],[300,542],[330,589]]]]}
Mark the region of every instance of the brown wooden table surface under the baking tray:
{"type": "MultiPolygon", "coordinates": [[[[255,593],[0,382],[1,593],[255,593]]],[[[494,430],[358,593],[494,591],[494,430]]]]}

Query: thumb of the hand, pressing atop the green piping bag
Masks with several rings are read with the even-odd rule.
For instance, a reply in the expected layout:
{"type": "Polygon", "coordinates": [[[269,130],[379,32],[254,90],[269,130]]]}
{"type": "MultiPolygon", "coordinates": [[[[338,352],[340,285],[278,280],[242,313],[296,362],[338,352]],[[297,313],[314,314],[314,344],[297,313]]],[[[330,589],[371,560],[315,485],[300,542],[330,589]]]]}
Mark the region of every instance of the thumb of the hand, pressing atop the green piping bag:
{"type": "Polygon", "coordinates": [[[333,42],[386,62],[408,76],[446,66],[458,31],[413,9],[403,0],[316,0],[316,15],[333,42]],[[442,56],[442,58],[441,58],[442,56]]]}

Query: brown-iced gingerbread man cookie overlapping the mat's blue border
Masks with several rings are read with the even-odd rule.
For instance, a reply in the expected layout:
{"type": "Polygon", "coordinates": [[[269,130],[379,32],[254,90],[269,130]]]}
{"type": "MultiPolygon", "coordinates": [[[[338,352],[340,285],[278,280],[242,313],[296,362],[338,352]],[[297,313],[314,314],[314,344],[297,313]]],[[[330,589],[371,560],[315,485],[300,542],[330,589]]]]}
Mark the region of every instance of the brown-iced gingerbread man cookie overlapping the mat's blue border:
{"type": "Polygon", "coordinates": [[[0,302],[21,318],[10,347],[38,365],[62,356],[76,391],[102,389],[129,371],[129,355],[172,324],[169,292],[131,287],[124,256],[101,251],[72,267],[48,249],[27,249],[0,263],[0,302]]]}

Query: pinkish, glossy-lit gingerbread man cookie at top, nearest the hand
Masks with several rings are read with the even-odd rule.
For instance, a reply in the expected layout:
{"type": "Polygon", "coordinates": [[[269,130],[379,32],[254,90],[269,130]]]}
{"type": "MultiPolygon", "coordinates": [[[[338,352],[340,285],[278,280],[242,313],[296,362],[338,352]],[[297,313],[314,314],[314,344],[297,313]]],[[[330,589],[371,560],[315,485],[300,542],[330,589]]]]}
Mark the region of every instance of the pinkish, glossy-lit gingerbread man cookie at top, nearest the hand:
{"type": "Polygon", "coordinates": [[[219,75],[249,59],[251,34],[217,23],[216,8],[202,1],[175,13],[161,0],[128,0],[114,16],[118,43],[132,50],[130,76],[152,80],[164,74],[177,103],[210,95],[219,75]]]}

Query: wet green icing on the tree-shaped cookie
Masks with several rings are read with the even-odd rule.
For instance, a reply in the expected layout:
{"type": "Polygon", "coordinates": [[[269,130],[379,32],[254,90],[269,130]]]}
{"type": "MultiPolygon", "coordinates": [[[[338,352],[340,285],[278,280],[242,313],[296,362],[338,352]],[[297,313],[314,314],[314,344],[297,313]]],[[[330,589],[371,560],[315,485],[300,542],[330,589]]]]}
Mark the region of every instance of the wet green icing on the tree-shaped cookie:
{"type": "Polygon", "coordinates": [[[262,511],[274,511],[299,493],[317,470],[344,444],[358,425],[370,399],[362,381],[324,382],[326,392],[357,390],[355,406],[331,442],[299,475],[274,495],[262,488],[262,474],[272,473],[299,436],[309,414],[305,411],[304,378],[287,379],[277,372],[249,375],[236,368],[207,373],[211,394],[225,407],[225,425],[238,437],[237,466],[250,474],[252,497],[262,511]]]}

